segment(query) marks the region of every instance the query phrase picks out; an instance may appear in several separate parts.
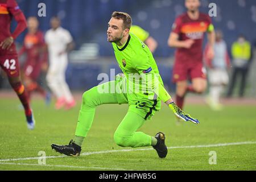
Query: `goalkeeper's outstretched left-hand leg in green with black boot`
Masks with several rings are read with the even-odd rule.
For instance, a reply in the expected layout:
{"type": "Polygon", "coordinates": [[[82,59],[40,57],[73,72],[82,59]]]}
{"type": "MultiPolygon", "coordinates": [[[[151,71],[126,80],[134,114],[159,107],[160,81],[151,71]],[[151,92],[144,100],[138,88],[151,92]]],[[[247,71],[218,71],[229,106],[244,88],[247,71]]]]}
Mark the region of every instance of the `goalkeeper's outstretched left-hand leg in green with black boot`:
{"type": "MultiPolygon", "coordinates": [[[[125,80],[122,83],[124,84],[125,80]]],[[[82,105],[76,127],[75,141],[69,143],[68,146],[52,144],[52,148],[61,154],[79,155],[82,142],[92,126],[96,107],[102,104],[127,104],[126,94],[122,93],[122,88],[118,87],[117,84],[119,84],[118,80],[110,81],[86,91],[82,95],[82,105]]]]}

